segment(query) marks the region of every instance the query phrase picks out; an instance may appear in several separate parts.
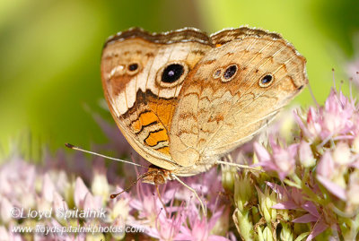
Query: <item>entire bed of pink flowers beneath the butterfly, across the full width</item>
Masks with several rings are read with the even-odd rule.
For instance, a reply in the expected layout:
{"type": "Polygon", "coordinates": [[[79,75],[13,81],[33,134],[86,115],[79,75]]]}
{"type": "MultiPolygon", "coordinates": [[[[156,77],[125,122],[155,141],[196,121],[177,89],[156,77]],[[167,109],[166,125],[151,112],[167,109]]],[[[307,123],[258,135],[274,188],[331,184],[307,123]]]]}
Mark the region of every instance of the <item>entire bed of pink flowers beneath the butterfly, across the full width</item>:
{"type": "MultiPolygon", "coordinates": [[[[331,90],[324,106],[286,113],[252,142],[232,152],[252,168],[227,165],[181,178],[205,202],[207,215],[187,187],[173,181],[158,189],[138,182],[116,199],[143,170],[82,153],[47,156],[43,165],[18,157],[0,166],[0,237],[5,240],[356,240],[359,232],[359,106],[331,90]],[[288,121],[289,120],[289,121],[288,121]],[[292,121],[291,121],[292,120],[292,121]],[[291,126],[288,128],[288,126],[291,126]],[[92,165],[91,165],[92,164],[92,165]],[[92,166],[92,168],[91,168],[92,166]],[[125,168],[126,167],[126,171],[125,168]],[[255,170],[257,168],[258,170],[255,170]],[[221,172],[221,173],[220,173],[221,172]],[[50,213],[14,217],[23,209],[50,213]],[[96,218],[75,211],[104,210],[96,218]],[[19,232],[35,228],[115,227],[97,232],[19,232]],[[126,228],[139,228],[137,232],[126,228]],[[121,231],[114,231],[121,230],[121,231]]],[[[113,126],[101,121],[112,141],[95,151],[134,153],[113,126]]],[[[228,156],[226,159],[232,161],[228,156]]],[[[144,164],[146,165],[146,164],[144,164]]],[[[57,229],[61,230],[61,229],[57,229]]],[[[66,229],[67,230],[67,229],[66,229]]]]}

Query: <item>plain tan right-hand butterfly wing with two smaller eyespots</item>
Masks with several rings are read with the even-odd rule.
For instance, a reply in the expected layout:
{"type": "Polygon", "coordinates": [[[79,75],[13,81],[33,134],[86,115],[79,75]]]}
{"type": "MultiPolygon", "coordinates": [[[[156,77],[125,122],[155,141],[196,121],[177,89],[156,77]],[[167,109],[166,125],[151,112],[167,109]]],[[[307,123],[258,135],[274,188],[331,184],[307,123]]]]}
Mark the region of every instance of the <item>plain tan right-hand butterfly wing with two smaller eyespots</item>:
{"type": "Polygon", "coordinates": [[[307,84],[305,59],[275,33],[241,28],[212,36],[188,75],[171,125],[182,166],[215,159],[248,141],[307,84]]]}

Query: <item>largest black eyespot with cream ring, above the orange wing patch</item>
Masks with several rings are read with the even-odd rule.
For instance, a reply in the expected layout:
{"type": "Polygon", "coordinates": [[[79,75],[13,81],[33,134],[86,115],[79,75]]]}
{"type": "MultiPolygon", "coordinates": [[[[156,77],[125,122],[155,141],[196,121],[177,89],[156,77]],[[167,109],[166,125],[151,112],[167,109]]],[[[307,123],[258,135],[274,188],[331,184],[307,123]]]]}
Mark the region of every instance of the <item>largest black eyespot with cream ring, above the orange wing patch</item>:
{"type": "Polygon", "coordinates": [[[156,83],[171,88],[183,82],[188,73],[188,66],[182,62],[170,63],[162,67],[156,76],[156,83]]]}

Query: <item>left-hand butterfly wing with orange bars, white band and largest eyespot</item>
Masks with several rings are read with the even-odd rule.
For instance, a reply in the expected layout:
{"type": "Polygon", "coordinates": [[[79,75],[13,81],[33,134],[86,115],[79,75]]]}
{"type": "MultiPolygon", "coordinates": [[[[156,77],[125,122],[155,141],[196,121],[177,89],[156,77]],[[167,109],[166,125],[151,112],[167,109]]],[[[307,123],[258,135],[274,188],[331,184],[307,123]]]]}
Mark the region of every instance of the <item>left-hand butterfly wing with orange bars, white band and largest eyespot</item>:
{"type": "Polygon", "coordinates": [[[150,34],[127,30],[110,38],[101,56],[109,110],[131,146],[154,165],[173,169],[171,117],[183,81],[211,48],[199,30],[150,34]]]}

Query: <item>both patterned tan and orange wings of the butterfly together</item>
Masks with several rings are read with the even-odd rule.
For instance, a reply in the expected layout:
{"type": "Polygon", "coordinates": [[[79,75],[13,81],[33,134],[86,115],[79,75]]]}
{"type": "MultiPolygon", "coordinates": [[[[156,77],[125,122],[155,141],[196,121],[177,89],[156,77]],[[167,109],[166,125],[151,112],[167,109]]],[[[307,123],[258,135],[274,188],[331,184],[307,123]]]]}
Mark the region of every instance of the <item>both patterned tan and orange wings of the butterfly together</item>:
{"type": "Polygon", "coordinates": [[[247,27],[210,37],[195,29],[118,33],[103,49],[101,79],[127,141],[176,176],[211,168],[308,82],[292,45],[247,27]]]}

